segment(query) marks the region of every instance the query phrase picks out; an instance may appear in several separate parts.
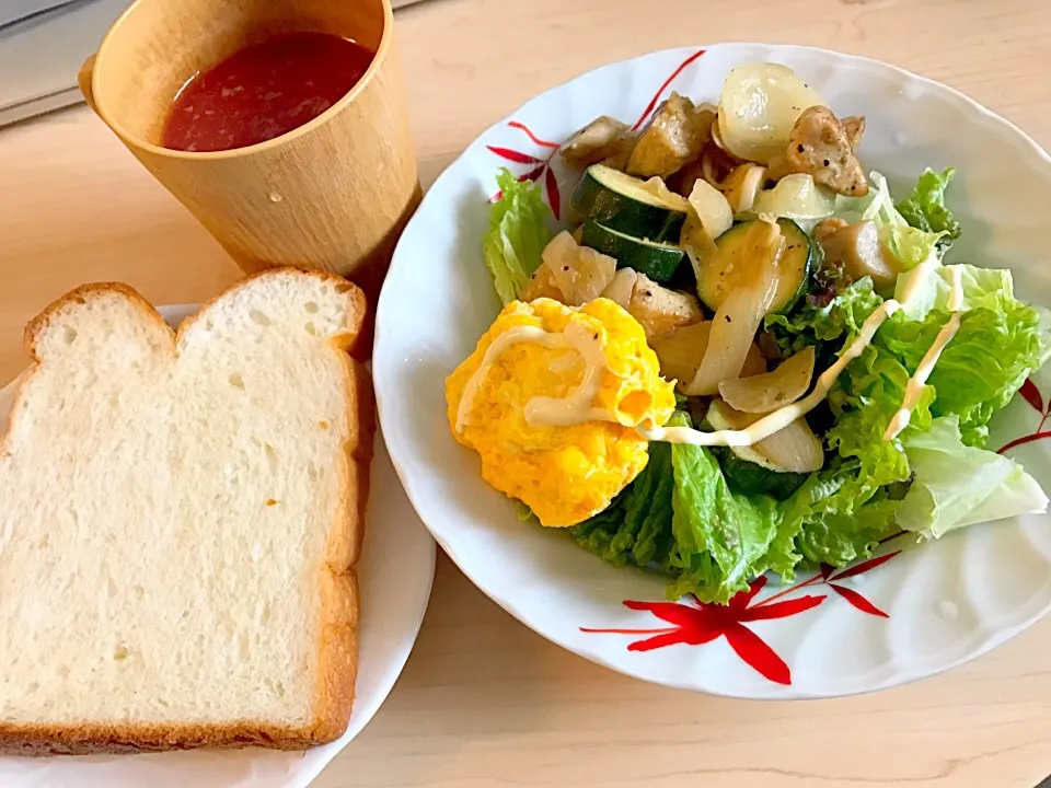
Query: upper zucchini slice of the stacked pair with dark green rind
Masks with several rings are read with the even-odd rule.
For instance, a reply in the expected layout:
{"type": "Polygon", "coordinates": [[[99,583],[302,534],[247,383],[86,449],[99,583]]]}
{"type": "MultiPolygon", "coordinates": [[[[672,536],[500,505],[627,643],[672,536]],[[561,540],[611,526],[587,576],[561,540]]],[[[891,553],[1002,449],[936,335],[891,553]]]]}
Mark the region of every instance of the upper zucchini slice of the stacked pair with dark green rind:
{"type": "Polygon", "coordinates": [[[573,207],[610,230],[650,241],[679,237],[690,204],[681,195],[604,164],[589,166],[573,193],[573,207]]]}

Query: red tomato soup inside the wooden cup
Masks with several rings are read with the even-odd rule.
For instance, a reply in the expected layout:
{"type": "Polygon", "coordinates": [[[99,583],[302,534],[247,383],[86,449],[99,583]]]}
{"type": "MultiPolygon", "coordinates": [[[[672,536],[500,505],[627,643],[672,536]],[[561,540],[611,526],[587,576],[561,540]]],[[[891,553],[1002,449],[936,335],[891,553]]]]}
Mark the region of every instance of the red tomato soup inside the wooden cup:
{"type": "Polygon", "coordinates": [[[327,33],[287,33],[240,49],[187,80],[161,144],[219,151],[280,137],[346,95],[372,57],[360,44],[327,33]]]}

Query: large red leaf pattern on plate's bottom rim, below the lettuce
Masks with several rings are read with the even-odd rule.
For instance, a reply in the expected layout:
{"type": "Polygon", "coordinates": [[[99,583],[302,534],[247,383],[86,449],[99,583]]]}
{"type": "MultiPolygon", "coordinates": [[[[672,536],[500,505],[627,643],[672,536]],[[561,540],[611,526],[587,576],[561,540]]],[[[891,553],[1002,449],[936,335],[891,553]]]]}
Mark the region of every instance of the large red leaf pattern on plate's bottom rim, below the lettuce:
{"type": "MultiPolygon", "coordinates": [[[[883,542],[889,542],[901,535],[899,532],[883,540],[883,542]]],[[[857,577],[858,575],[864,575],[886,564],[900,553],[901,551],[886,553],[864,560],[861,564],[855,564],[839,572],[831,566],[822,565],[820,571],[813,575],[813,577],[771,594],[755,604],[752,604],[752,601],[766,586],[767,579],[765,575],[755,578],[748,591],[742,591],[734,596],[727,605],[701,602],[692,595],[686,596],[683,602],[638,602],[625,600],[624,606],[628,610],[648,611],[672,626],[656,629],[600,629],[580,627],[580,631],[604,635],[650,636],[628,644],[628,651],[651,651],[677,644],[702,646],[720,637],[725,637],[737,656],[744,660],[744,662],[753,668],[760,675],[776,684],[789,685],[792,684],[792,670],[788,668],[788,664],[777,656],[777,652],[774,651],[766,641],[744,626],[744,624],[771,618],[787,618],[788,616],[798,615],[817,607],[824,602],[828,598],[827,594],[806,594],[804,596],[795,596],[794,599],[783,599],[784,596],[795,594],[808,586],[817,584],[828,586],[835,591],[839,596],[850,602],[863,613],[881,618],[889,618],[887,613],[873,604],[855,589],[844,586],[842,581],[857,577]],[[778,602],[777,600],[782,601],[778,602]]]]}

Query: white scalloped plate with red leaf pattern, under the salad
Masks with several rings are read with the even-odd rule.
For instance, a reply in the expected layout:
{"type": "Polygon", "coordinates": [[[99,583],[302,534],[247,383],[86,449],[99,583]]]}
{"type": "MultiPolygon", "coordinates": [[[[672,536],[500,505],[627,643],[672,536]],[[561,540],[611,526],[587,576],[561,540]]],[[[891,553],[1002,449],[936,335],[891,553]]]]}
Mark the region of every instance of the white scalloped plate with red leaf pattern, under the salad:
{"type": "MultiPolygon", "coordinates": [[[[950,259],[1010,267],[1021,298],[1051,304],[1051,160],[1017,128],[949,88],[873,60],[752,44],[702,51],[613,63],[533,99],[431,187],[399,244],[378,313],[376,387],[399,475],[439,544],[485,593],[554,642],[646,681],[739,697],[838,696],[973,659],[1051,606],[1048,517],[980,525],[898,554],[902,537],[885,545],[881,555],[894,555],[883,561],[804,575],[790,589],[767,582],[747,606],[739,599],[735,622],[718,630],[686,602],[625,606],[663,602],[665,579],[607,566],[565,534],[519,522],[482,480],[477,456],[450,434],[444,379],[499,309],[481,254],[497,169],[529,174],[564,209],[575,175],[553,154],[569,134],[600,114],[643,121],[672,89],[715,101],[727,71],[746,61],[790,66],[838,114],[866,115],[862,159],[897,194],[924,167],[956,166],[950,199],[965,232],[950,259]],[[774,594],[783,604],[754,610],[774,594]]],[[[1041,431],[1051,372],[1026,392],[994,422],[991,448],[1041,431]]],[[[1047,489],[1049,449],[1028,441],[1009,450],[1047,489]]]]}

